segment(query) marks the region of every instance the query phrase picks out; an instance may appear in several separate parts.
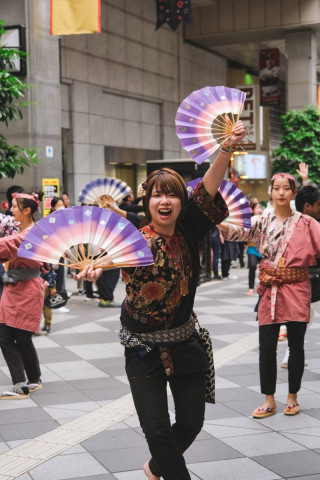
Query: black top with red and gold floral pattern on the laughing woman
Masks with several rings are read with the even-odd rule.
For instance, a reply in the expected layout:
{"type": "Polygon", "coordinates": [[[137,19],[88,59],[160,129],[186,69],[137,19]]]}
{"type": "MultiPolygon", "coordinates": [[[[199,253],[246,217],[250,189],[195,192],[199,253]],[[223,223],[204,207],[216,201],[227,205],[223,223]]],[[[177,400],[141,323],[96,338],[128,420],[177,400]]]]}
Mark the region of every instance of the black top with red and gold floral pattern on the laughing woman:
{"type": "MultiPolygon", "coordinates": [[[[175,235],[159,235],[152,225],[141,229],[154,265],[122,270],[127,293],[121,312],[123,325],[133,332],[150,332],[177,327],[190,318],[200,270],[198,242],[213,227],[212,222],[221,223],[227,215],[221,195],[217,193],[213,199],[200,182],[175,235]]],[[[143,357],[134,348],[126,348],[125,353],[129,378],[161,373],[163,368],[167,374],[208,368],[196,332],[181,344],[155,347],[143,357]],[[184,348],[179,361],[182,344],[188,348],[184,348]]]]}

